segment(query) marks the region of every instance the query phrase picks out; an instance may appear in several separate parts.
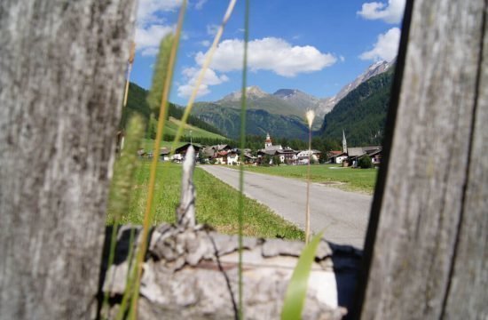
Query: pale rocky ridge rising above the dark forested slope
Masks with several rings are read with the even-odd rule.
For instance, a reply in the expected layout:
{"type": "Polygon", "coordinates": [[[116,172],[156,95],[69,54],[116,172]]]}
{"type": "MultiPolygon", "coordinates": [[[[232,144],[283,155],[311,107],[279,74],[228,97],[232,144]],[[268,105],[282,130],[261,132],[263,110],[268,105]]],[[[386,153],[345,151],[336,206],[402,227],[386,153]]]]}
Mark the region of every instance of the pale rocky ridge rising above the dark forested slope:
{"type": "Polygon", "coordinates": [[[337,92],[335,96],[321,99],[319,100],[318,107],[316,109],[317,114],[319,116],[324,116],[328,112],[330,112],[335,105],[342,100],[349,92],[358,88],[359,84],[364,83],[366,80],[372,78],[373,76],[378,76],[383,72],[386,72],[390,69],[392,65],[395,64],[395,60],[390,62],[387,61],[378,61],[369,66],[365,72],[363,72],[360,76],[358,76],[353,82],[350,84],[346,84],[342,87],[341,91],[337,92]]]}

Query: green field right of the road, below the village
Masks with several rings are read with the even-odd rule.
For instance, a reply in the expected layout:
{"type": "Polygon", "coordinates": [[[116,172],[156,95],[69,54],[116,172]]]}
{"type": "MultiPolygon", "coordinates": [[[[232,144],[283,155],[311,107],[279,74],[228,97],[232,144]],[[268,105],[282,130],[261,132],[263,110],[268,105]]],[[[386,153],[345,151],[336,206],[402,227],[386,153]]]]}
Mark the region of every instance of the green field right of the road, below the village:
{"type": "MultiPolygon", "coordinates": [[[[287,178],[307,179],[306,165],[248,166],[245,170],[287,178]]],[[[342,168],[338,164],[312,164],[311,181],[346,191],[372,195],[378,169],[342,168]]]]}

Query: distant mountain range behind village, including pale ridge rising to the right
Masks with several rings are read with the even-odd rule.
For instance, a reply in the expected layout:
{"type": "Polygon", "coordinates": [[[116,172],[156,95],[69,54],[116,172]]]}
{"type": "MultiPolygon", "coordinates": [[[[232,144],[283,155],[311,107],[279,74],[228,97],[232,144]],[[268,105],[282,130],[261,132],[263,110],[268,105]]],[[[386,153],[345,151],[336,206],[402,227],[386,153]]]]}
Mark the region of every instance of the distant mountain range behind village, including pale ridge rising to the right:
{"type": "MultiPolygon", "coordinates": [[[[246,89],[247,133],[264,135],[269,132],[276,138],[306,139],[308,127],[304,115],[307,110],[313,109],[318,115],[312,124],[312,130],[323,130],[323,116],[360,84],[390,70],[393,63],[394,61],[374,63],[334,97],[326,99],[319,99],[296,89],[279,89],[270,94],[257,86],[249,86],[246,89]]],[[[240,134],[240,96],[241,92],[238,91],[225,95],[221,100],[197,102],[193,107],[193,115],[216,126],[226,136],[236,139],[240,134]]]]}

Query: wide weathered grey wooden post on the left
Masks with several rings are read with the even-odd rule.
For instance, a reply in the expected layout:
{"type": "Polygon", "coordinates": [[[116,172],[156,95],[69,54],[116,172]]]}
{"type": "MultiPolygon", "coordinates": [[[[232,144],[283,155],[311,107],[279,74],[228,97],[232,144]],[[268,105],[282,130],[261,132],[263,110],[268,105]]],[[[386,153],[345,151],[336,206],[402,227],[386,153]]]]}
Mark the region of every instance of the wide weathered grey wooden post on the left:
{"type": "Polygon", "coordinates": [[[134,9],[0,2],[0,319],[96,307],[134,9]]]}

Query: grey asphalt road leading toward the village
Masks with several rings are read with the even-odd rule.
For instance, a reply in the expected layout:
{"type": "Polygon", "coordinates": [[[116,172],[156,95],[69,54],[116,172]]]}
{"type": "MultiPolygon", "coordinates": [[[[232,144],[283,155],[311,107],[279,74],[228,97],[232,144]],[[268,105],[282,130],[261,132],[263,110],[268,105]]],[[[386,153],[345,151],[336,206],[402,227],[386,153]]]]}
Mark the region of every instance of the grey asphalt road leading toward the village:
{"type": "MultiPolygon", "coordinates": [[[[201,169],[239,188],[239,171],[221,165],[201,169]]],[[[324,170],[331,170],[324,167],[324,170]]],[[[245,172],[244,193],[304,229],[307,184],[302,180],[245,172]]],[[[325,230],[327,240],[363,248],[372,196],[311,183],[311,229],[325,230]]]]}

